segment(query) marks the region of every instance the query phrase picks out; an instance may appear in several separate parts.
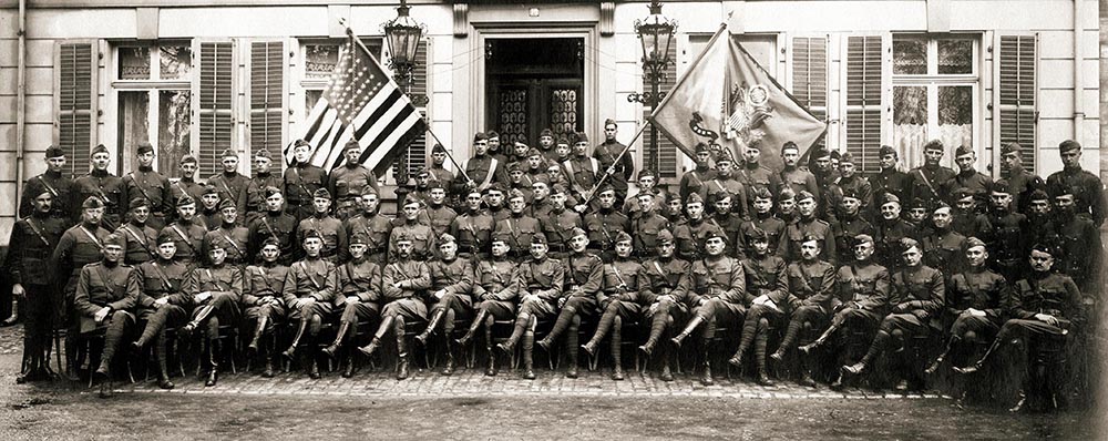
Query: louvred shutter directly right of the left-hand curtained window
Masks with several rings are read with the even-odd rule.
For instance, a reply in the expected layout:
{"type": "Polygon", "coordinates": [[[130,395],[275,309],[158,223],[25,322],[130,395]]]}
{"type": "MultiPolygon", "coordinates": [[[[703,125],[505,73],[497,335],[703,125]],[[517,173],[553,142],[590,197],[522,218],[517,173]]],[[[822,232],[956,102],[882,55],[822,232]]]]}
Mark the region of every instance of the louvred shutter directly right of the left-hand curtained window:
{"type": "Polygon", "coordinates": [[[201,43],[199,174],[207,177],[223,170],[219,155],[232,146],[232,68],[234,44],[201,43]]]}

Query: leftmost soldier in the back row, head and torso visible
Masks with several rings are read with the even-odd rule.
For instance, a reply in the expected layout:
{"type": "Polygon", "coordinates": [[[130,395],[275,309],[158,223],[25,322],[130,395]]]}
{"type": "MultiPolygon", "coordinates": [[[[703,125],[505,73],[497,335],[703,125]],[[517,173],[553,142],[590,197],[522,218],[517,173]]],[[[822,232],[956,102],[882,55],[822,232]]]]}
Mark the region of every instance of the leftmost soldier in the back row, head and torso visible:
{"type": "Polygon", "coordinates": [[[32,215],[35,212],[34,199],[42,194],[42,191],[47,191],[50,192],[51,196],[50,215],[64,219],[65,225],[71,225],[74,219],[80,217],[76,204],[82,199],[75,199],[79,195],[73,180],[63,174],[65,151],[51,145],[47,147],[45,156],[47,171],[27,180],[27,183],[23,184],[23,194],[19,198],[19,217],[32,215]]]}

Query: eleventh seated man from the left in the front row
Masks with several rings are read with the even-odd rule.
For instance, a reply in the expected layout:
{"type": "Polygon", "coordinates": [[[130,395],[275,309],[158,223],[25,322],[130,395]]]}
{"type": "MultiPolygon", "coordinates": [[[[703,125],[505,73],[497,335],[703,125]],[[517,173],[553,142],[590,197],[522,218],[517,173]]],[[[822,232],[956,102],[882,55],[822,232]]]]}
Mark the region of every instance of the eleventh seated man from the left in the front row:
{"type": "Polygon", "coordinates": [[[557,320],[546,337],[537,341],[550,353],[551,347],[565,332],[566,378],[577,378],[577,329],[583,319],[596,315],[604,276],[604,261],[588,250],[588,234],[574,228],[570,238],[570,256],[565,258],[566,288],[557,301],[557,320]]]}

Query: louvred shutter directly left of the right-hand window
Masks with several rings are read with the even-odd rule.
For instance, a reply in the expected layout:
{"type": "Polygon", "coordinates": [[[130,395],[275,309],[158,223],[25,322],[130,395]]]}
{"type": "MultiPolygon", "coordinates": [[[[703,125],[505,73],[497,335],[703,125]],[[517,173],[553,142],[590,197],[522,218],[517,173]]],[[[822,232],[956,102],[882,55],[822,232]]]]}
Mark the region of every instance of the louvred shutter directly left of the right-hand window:
{"type": "Polygon", "coordinates": [[[862,172],[880,171],[881,37],[847,38],[847,151],[862,172]]]}

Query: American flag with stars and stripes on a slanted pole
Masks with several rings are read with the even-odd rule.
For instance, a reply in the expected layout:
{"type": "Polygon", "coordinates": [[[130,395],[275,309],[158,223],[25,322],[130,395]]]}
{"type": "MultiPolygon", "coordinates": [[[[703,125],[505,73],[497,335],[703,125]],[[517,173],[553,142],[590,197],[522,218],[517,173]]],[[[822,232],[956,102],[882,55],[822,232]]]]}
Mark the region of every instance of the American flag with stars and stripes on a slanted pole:
{"type": "MultiPolygon", "coordinates": [[[[358,162],[383,176],[394,157],[427,129],[408,95],[351,35],[339,49],[338,63],[322,96],[306,120],[299,139],[315,151],[309,162],[331,170],[342,165],[343,146],[361,145],[358,162]]],[[[295,162],[293,144],[285,147],[285,163],[295,162]]]]}

